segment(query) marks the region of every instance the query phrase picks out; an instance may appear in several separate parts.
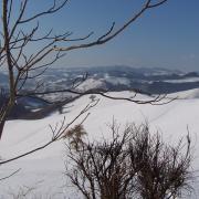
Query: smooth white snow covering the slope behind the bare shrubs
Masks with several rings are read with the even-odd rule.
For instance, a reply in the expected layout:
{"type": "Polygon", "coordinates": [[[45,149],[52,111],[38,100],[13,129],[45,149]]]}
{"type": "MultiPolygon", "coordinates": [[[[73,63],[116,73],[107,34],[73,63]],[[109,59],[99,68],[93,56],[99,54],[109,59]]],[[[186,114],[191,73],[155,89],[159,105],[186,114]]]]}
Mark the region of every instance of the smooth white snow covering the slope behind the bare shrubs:
{"type": "MultiPolygon", "coordinates": [[[[133,92],[111,93],[114,96],[134,96],[133,92]]],[[[163,106],[138,105],[125,101],[112,101],[100,97],[97,106],[90,112],[91,115],[84,123],[90,139],[109,137],[107,124],[113,122],[113,117],[119,124],[135,122],[150,125],[153,132],[159,130],[165,142],[175,144],[179,138],[187,135],[187,126],[191,134],[192,145],[195,146],[195,159],[192,169],[199,169],[199,90],[171,94],[170,97],[178,96],[182,100],[174,101],[163,106]]],[[[148,98],[138,95],[138,98],[148,98]]],[[[66,122],[71,122],[81,109],[91,101],[90,96],[84,96],[66,106],[66,114],[54,113],[40,121],[10,121],[6,125],[3,137],[0,145],[1,158],[13,157],[23,151],[30,150],[51,139],[49,124],[60,123],[64,115],[66,122]]],[[[77,121],[76,123],[78,123],[77,121]]],[[[18,193],[23,193],[29,188],[33,189],[24,198],[82,198],[70,181],[64,176],[65,147],[63,142],[57,142],[43,150],[21,158],[20,160],[0,167],[0,178],[10,175],[17,169],[21,170],[0,181],[0,199],[14,198],[18,193]]],[[[199,198],[195,181],[195,192],[192,199],[199,198]],[[198,196],[198,197],[197,197],[198,196]]],[[[21,197],[23,198],[23,197],[21,197]]],[[[189,197],[190,198],[190,197],[189,197]]]]}

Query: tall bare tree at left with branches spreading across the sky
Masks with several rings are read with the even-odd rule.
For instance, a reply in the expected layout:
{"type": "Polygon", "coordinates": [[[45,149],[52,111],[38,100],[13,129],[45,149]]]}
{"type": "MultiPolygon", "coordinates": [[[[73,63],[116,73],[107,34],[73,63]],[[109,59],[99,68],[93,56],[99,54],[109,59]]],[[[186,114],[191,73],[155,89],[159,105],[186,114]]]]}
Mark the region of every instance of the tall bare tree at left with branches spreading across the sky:
{"type": "MultiPolygon", "coordinates": [[[[94,32],[82,38],[72,38],[72,32],[69,31],[54,34],[53,29],[43,34],[40,33],[40,19],[59,12],[67,6],[69,0],[51,0],[52,6],[29,17],[27,17],[27,11],[30,6],[30,0],[1,0],[2,25],[0,27],[0,66],[4,67],[8,72],[9,93],[7,102],[3,103],[0,111],[0,138],[3,133],[4,123],[8,115],[11,113],[17,98],[27,95],[42,94],[41,92],[38,92],[41,83],[35,83],[35,88],[33,91],[24,93],[23,88],[27,81],[32,81],[36,76],[40,76],[50,65],[61,59],[65,52],[101,45],[111,41],[142,17],[144,12],[159,7],[166,1],[167,0],[145,0],[140,10],[127,20],[126,23],[119,28],[115,28],[114,22],[109,30],[103,35],[91,41],[92,36],[94,36],[94,32]],[[19,11],[15,9],[18,7],[20,7],[19,11]],[[27,29],[25,27],[28,25],[31,25],[32,28],[27,29]],[[83,43],[80,44],[80,42],[83,43]],[[40,49],[35,49],[35,52],[32,54],[27,53],[27,50],[35,43],[39,44],[40,49]]],[[[52,92],[65,91],[50,91],[49,93],[52,92]]],[[[72,90],[71,92],[75,91],[72,90]]],[[[83,95],[84,93],[78,94],[83,95]]],[[[104,93],[100,94],[114,98],[104,93]]],[[[155,103],[160,100],[161,97],[154,98],[149,102],[130,101],[135,103],[155,103]]]]}

